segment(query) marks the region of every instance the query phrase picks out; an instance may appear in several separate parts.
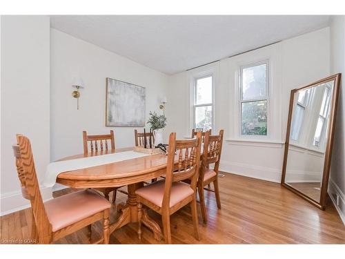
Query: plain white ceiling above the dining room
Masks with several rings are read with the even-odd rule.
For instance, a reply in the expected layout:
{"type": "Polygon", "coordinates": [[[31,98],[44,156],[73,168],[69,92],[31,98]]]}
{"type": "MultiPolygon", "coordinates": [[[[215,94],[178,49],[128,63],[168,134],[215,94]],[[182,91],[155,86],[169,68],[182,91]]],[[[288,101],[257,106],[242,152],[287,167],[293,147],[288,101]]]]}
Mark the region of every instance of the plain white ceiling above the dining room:
{"type": "Polygon", "coordinates": [[[59,15],[52,28],[166,74],[328,26],[329,16],[59,15]]]}

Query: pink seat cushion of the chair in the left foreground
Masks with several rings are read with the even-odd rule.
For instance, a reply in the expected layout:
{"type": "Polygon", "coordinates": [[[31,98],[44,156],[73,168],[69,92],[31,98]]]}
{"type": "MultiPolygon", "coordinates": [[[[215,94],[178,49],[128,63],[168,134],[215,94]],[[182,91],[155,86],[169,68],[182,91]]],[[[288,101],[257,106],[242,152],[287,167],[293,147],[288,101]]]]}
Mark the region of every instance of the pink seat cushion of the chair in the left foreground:
{"type": "Polygon", "coordinates": [[[58,231],[97,212],[110,209],[111,204],[90,189],[63,195],[44,203],[52,231],[58,231]]]}

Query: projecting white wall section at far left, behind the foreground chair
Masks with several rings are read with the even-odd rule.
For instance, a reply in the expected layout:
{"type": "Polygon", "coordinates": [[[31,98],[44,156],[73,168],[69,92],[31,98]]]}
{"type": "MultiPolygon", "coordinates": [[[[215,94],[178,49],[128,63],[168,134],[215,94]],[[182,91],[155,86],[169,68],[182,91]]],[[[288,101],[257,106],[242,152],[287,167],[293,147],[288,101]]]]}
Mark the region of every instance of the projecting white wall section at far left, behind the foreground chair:
{"type": "Polygon", "coordinates": [[[50,161],[49,30],[49,17],[1,17],[1,213],[28,204],[12,151],[15,134],[30,138],[39,180],[50,161]]]}

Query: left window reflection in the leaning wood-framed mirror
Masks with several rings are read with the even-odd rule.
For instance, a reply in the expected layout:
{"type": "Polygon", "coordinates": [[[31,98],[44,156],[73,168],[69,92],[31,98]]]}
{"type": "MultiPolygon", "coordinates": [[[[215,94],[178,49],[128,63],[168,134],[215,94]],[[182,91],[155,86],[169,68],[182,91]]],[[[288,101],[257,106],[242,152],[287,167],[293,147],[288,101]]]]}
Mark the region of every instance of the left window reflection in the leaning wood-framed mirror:
{"type": "Polygon", "coordinates": [[[311,94],[311,89],[301,90],[298,92],[296,108],[293,115],[293,121],[291,123],[291,140],[299,140],[301,134],[302,124],[304,122],[304,113],[306,113],[306,106],[308,104],[308,98],[311,94]]]}

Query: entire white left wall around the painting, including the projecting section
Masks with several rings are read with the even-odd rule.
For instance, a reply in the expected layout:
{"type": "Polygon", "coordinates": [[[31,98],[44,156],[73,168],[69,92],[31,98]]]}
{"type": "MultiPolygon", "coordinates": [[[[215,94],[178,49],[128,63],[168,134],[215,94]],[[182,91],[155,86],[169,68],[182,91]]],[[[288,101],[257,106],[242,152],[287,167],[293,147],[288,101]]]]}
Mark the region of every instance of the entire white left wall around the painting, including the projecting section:
{"type": "MultiPolygon", "coordinates": [[[[167,75],[50,29],[49,17],[1,17],[1,214],[28,207],[12,153],[15,133],[32,142],[39,182],[50,161],[83,152],[83,130],[113,129],[117,148],[134,146],[134,128],[105,126],[106,77],[146,87],[146,120],[149,111],[161,112],[167,75]],[[73,77],[85,84],[79,111],[73,77]]],[[[52,197],[51,189],[41,191],[52,197]]]]}

